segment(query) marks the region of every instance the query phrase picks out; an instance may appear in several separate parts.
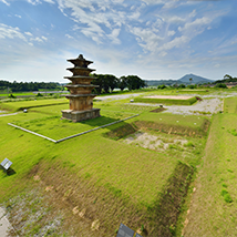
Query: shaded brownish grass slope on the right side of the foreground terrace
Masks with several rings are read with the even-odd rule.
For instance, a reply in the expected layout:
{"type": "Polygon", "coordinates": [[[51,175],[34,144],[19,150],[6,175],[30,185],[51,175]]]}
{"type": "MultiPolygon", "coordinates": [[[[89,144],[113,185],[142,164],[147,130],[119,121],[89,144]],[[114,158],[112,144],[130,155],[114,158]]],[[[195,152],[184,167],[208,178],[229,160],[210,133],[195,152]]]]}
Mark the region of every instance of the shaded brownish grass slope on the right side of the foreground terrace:
{"type": "Polygon", "coordinates": [[[163,187],[154,206],[148,207],[153,231],[151,236],[174,236],[181,207],[185,200],[193,169],[178,163],[163,187]]]}

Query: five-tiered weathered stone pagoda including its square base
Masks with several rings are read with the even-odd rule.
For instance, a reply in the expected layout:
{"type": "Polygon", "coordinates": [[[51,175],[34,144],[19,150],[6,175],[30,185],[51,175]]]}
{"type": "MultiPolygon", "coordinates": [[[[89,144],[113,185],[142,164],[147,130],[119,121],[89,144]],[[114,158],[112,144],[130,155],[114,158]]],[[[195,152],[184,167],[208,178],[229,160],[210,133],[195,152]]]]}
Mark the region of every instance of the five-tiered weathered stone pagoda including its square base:
{"type": "Polygon", "coordinates": [[[93,109],[93,97],[96,94],[92,94],[92,90],[97,85],[91,84],[93,78],[90,73],[95,70],[87,68],[93,62],[85,60],[82,54],[68,61],[73,63],[74,68],[66,69],[73,73],[72,76],[64,76],[72,83],[66,85],[70,94],[64,95],[70,100],[70,110],[62,111],[62,118],[80,122],[101,116],[100,109],[93,109]]]}

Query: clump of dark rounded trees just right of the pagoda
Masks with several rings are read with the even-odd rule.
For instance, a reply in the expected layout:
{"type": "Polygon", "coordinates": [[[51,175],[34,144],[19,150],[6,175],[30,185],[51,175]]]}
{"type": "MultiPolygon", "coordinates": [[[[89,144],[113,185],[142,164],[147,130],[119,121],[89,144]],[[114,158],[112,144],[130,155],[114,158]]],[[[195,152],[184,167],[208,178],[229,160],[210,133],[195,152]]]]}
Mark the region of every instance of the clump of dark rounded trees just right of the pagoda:
{"type": "Polygon", "coordinates": [[[145,81],[138,78],[137,75],[123,75],[117,79],[115,75],[111,74],[91,74],[94,80],[92,84],[99,85],[94,91],[99,94],[101,93],[111,93],[114,89],[120,89],[123,91],[124,89],[138,90],[141,87],[145,87],[145,81]]]}

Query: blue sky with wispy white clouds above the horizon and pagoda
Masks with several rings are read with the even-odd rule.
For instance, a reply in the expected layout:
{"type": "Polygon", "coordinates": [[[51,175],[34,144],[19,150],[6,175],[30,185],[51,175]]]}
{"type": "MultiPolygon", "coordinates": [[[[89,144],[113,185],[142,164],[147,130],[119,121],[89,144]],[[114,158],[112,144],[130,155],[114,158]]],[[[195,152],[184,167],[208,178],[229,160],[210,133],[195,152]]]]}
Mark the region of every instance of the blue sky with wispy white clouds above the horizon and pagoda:
{"type": "Polygon", "coordinates": [[[236,0],[0,0],[0,80],[96,73],[144,80],[237,76],[236,0]]]}

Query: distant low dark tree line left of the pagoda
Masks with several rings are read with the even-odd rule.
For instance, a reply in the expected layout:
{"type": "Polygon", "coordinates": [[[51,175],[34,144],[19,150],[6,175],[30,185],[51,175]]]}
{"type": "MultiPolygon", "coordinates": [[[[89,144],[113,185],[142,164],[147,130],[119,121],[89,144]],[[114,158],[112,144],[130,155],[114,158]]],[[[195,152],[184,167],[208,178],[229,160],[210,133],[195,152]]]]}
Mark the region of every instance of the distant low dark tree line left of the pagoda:
{"type": "Polygon", "coordinates": [[[62,86],[55,82],[9,82],[0,81],[0,91],[28,92],[44,90],[62,90],[62,86]]]}

